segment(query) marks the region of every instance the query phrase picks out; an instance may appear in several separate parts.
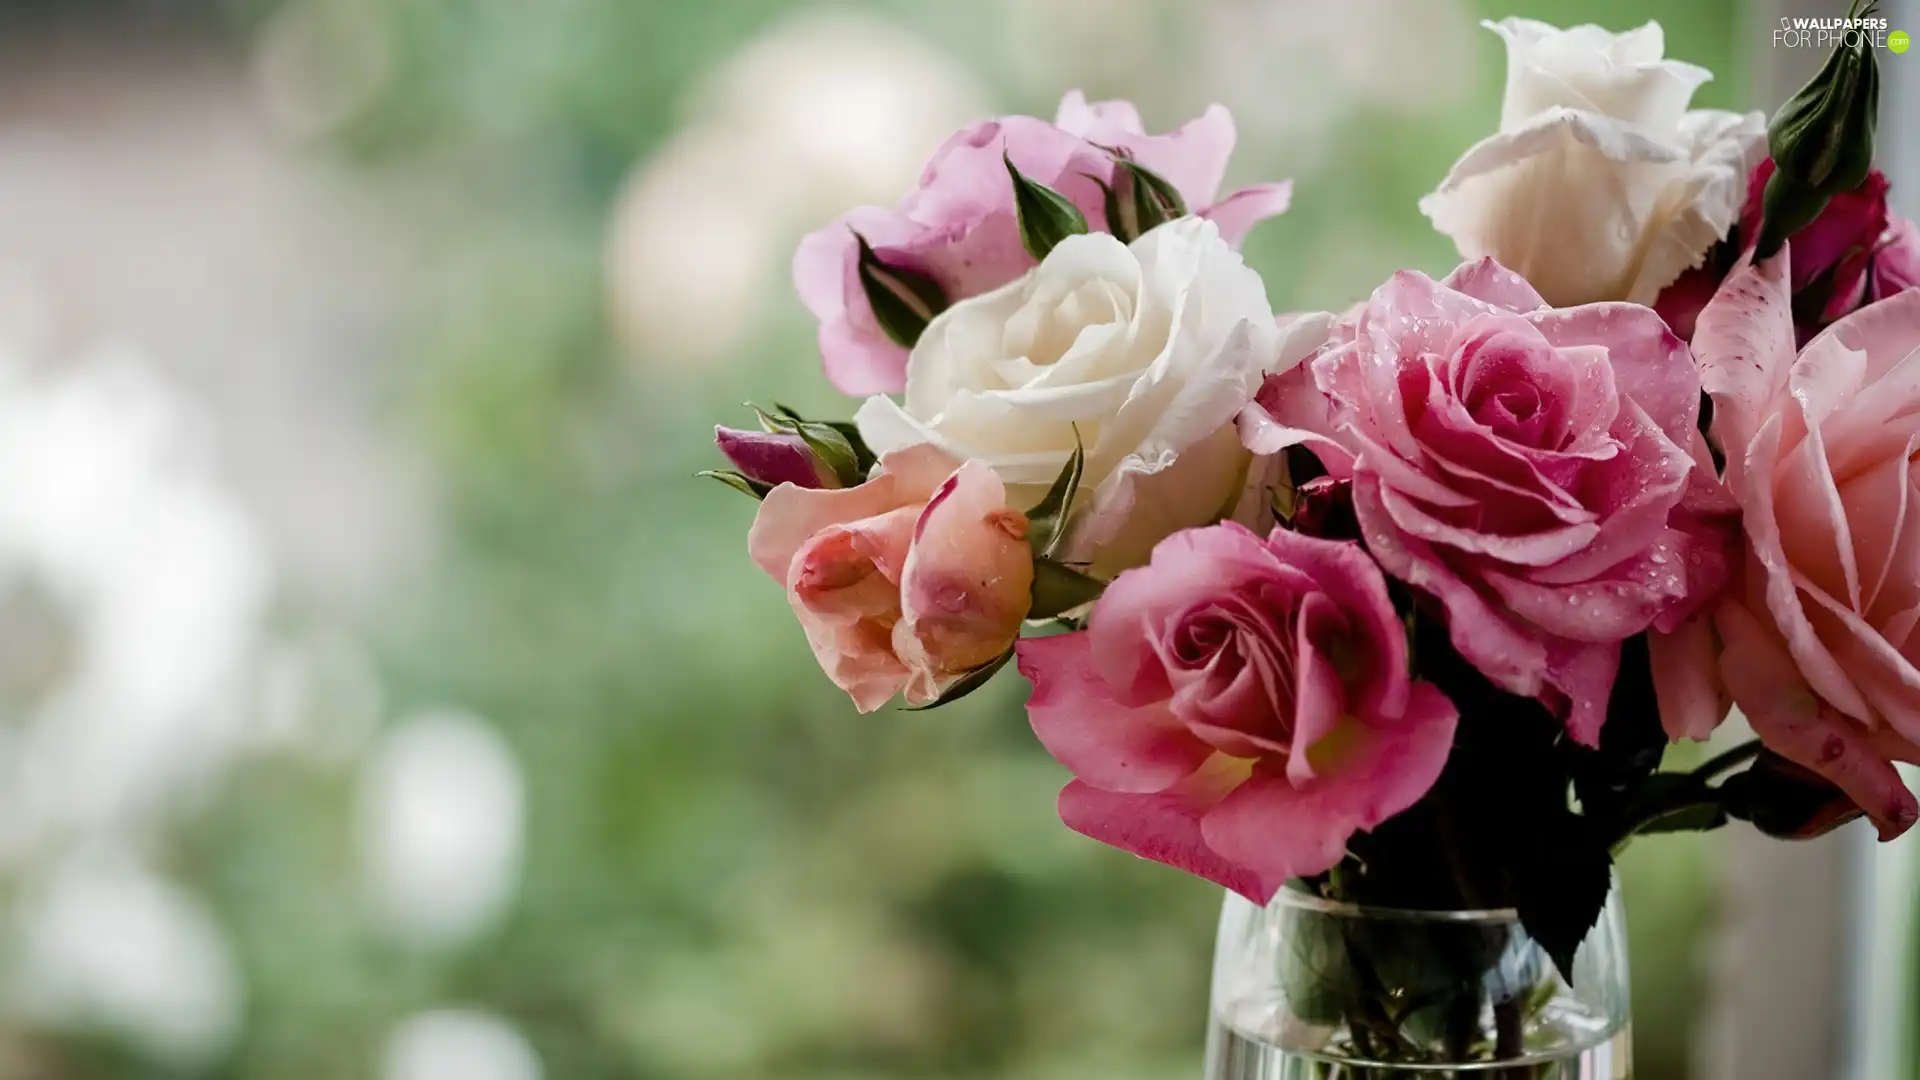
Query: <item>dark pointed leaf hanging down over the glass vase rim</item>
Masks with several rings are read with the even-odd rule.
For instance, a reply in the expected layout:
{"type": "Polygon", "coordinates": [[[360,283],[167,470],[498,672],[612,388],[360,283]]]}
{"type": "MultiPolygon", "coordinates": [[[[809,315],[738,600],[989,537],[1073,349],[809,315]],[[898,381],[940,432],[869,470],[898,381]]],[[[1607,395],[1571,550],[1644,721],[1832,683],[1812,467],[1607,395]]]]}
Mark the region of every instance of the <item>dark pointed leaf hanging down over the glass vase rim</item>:
{"type": "Polygon", "coordinates": [[[1572,982],[1572,957],[1599,922],[1613,890],[1613,855],[1597,830],[1571,809],[1540,815],[1532,824],[1530,849],[1519,851],[1509,867],[1513,907],[1561,978],[1572,982]]]}

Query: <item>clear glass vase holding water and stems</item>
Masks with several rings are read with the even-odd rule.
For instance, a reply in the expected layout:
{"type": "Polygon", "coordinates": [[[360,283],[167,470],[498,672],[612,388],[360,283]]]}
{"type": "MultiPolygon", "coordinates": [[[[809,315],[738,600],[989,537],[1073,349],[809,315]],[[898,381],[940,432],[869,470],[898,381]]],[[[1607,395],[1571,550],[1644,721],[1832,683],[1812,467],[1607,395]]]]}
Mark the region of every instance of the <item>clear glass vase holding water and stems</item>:
{"type": "Polygon", "coordinates": [[[1227,894],[1206,1080],[1626,1080],[1620,888],[1569,984],[1505,911],[1227,894]]]}

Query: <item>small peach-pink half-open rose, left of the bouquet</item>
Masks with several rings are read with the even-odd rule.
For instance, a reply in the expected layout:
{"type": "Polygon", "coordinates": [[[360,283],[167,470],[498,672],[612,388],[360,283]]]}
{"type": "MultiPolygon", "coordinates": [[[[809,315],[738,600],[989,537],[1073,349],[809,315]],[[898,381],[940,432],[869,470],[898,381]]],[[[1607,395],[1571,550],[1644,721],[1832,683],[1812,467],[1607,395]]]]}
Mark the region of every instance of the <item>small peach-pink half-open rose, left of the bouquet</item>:
{"type": "Polygon", "coordinates": [[[787,588],[806,644],[862,713],[924,705],[1020,636],[1033,588],[1027,519],[979,461],[887,454],[856,488],[780,484],[747,534],[787,588]]]}

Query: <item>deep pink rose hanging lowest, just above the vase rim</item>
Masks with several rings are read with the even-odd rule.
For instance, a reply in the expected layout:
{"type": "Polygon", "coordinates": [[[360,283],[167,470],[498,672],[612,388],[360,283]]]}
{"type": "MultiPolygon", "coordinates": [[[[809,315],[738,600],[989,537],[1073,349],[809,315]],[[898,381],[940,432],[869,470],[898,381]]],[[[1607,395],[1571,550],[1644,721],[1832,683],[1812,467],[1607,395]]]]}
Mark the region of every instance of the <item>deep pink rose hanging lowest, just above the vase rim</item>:
{"type": "Polygon", "coordinates": [[[1407,675],[1357,546],[1233,523],[1175,532],[1087,630],[1020,642],[1027,719],[1077,776],[1068,826],[1265,903],[1432,788],[1453,703],[1407,675]]]}

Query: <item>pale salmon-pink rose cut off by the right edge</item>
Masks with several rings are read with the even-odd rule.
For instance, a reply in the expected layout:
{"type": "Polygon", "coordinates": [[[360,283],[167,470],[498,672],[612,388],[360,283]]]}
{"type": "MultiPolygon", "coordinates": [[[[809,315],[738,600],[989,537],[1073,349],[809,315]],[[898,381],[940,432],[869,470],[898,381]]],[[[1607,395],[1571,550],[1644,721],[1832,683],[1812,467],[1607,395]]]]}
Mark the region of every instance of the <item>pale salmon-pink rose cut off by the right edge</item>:
{"type": "Polygon", "coordinates": [[[1763,744],[1885,838],[1920,815],[1891,765],[1920,761],[1920,290],[1795,356],[1795,246],[1736,267],[1693,338],[1745,527],[1718,676],[1763,744]]]}

